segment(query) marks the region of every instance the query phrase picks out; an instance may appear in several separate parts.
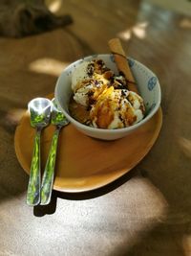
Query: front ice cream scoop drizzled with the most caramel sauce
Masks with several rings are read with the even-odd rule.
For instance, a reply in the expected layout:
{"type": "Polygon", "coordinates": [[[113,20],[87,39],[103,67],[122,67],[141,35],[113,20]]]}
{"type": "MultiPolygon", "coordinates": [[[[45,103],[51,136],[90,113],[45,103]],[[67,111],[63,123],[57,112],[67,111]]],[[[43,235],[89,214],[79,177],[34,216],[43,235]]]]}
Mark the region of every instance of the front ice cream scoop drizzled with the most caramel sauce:
{"type": "Polygon", "coordinates": [[[144,105],[137,93],[127,89],[107,88],[90,111],[95,128],[125,128],[144,116],[144,105]]]}

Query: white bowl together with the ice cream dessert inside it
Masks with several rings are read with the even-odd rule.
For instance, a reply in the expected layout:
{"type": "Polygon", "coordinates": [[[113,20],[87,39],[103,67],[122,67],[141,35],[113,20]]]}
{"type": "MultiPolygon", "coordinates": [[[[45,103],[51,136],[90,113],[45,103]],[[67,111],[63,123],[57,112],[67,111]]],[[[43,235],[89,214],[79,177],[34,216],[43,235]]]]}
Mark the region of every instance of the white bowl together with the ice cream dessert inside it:
{"type": "Polygon", "coordinates": [[[75,128],[97,139],[116,140],[154,116],[161,94],[148,67],[116,53],[74,61],[59,76],[54,97],[75,128]]]}

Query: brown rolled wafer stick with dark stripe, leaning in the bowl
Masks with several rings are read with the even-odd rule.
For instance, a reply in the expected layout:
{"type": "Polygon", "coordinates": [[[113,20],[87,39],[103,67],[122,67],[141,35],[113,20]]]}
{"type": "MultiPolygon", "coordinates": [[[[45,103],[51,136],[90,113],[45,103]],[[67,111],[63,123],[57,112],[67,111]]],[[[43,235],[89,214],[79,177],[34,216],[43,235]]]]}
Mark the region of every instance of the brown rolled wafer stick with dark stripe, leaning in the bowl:
{"type": "Polygon", "coordinates": [[[128,89],[130,91],[134,91],[134,92],[138,93],[136,81],[135,81],[134,76],[129,67],[129,64],[128,64],[125,52],[122,49],[120,40],[118,38],[113,38],[113,39],[109,40],[108,44],[109,44],[112,54],[114,55],[118,71],[123,73],[123,75],[125,76],[125,79],[128,82],[127,83],[128,89]]]}

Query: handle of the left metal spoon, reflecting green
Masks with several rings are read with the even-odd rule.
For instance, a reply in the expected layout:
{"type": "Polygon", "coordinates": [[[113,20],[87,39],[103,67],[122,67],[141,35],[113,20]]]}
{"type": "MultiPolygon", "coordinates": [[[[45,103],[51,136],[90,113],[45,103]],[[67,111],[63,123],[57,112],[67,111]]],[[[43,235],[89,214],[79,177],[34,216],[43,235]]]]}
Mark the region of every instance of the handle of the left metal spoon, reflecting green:
{"type": "Polygon", "coordinates": [[[32,166],[27,192],[27,204],[34,206],[40,202],[40,134],[41,129],[37,129],[34,138],[32,153],[32,166]]]}

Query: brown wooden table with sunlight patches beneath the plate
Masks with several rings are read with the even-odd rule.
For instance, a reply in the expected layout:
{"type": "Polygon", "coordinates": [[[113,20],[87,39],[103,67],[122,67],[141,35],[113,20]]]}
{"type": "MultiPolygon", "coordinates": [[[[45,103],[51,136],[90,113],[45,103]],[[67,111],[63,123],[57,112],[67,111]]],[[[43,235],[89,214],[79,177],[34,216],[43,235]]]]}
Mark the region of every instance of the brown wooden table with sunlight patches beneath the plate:
{"type": "Polygon", "coordinates": [[[190,18],[144,1],[63,1],[65,29],[0,38],[0,255],[191,255],[190,18]],[[28,102],[53,92],[77,58],[108,53],[121,38],[129,56],[159,77],[163,126],[129,174],[96,191],[53,193],[29,207],[29,176],[13,138],[28,102]]]}

